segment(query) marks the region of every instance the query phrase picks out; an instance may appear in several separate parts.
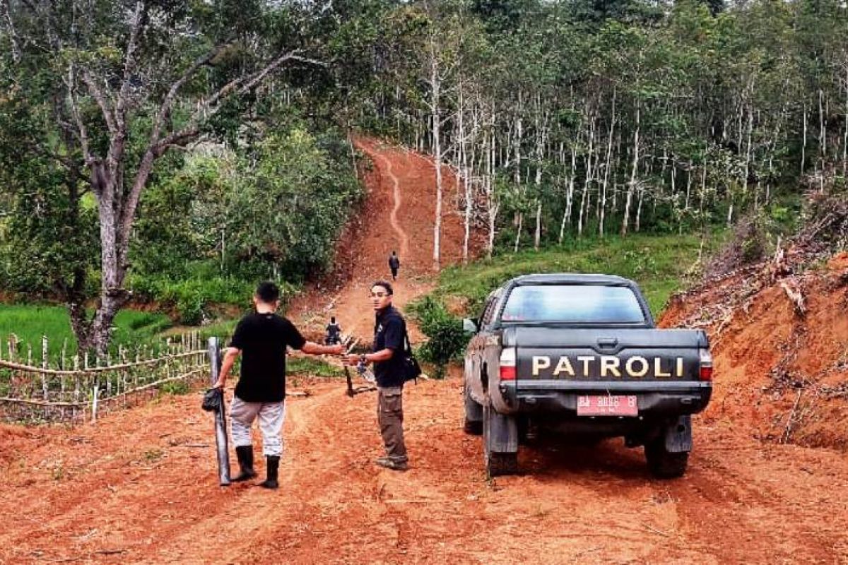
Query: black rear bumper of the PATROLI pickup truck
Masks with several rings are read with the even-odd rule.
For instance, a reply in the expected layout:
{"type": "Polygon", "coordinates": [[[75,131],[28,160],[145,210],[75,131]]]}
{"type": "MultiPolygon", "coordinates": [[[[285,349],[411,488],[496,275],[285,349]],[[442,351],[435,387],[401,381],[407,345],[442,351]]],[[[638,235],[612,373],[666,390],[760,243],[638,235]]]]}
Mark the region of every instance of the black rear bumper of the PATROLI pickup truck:
{"type": "MultiPolygon", "coordinates": [[[[695,414],[706,408],[712,383],[700,381],[562,381],[501,383],[505,413],[555,414],[577,418],[577,396],[636,396],[641,418],[695,414]]],[[[582,418],[582,417],[581,417],[582,418]]]]}

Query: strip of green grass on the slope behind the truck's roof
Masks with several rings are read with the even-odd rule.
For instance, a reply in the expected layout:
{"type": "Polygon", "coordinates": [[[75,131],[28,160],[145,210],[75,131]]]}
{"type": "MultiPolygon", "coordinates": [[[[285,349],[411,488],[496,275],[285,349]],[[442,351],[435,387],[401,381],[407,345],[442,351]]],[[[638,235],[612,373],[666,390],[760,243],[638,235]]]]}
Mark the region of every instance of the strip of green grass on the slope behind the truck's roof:
{"type": "MultiPolygon", "coordinates": [[[[723,234],[706,240],[704,257],[723,240],[723,234]]],[[[685,287],[687,274],[699,274],[700,265],[696,263],[700,246],[697,235],[628,235],[570,241],[538,252],[502,252],[491,260],[444,270],[433,294],[441,299],[465,297],[469,314],[477,315],[490,291],[521,274],[617,274],[639,284],[651,313],[657,316],[672,292],[685,287]]]]}

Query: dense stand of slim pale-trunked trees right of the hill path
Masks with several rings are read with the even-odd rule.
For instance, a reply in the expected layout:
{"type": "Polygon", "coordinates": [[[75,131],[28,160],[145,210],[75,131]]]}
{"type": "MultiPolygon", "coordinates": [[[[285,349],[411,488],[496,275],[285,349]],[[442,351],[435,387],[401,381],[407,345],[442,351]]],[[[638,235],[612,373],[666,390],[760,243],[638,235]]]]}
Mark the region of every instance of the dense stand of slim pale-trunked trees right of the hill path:
{"type": "Polygon", "coordinates": [[[444,153],[490,251],[730,224],[848,168],[838,0],[454,0],[382,21],[405,56],[375,43],[360,119],[444,153]]]}

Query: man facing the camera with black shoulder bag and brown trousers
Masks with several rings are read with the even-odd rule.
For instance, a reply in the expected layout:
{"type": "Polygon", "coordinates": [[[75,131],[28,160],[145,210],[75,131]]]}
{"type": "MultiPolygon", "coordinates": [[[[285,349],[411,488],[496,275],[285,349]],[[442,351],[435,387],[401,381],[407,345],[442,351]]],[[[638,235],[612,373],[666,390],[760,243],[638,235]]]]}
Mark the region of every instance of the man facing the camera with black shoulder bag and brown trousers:
{"type": "Polygon", "coordinates": [[[374,363],[377,380],[377,423],[386,447],[386,456],[377,457],[375,463],[394,471],[408,467],[404,443],[404,374],[403,354],[406,322],[392,306],[391,283],[378,280],[371,285],[371,304],[377,318],[374,322],[374,343],[371,353],[349,355],[346,365],[374,363]]]}

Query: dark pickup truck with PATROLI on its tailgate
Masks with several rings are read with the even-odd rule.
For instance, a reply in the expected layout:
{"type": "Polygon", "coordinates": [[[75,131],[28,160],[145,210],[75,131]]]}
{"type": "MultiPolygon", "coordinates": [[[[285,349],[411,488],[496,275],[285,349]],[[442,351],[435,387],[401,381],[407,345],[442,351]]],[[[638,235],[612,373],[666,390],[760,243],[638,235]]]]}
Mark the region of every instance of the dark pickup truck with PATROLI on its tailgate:
{"type": "Polygon", "coordinates": [[[486,300],[465,358],[465,430],[483,435],[488,476],[518,470],[528,432],[644,446],[650,473],[682,476],[691,415],[712,393],[702,330],[660,330],[632,280],[528,274],[486,300]]]}

